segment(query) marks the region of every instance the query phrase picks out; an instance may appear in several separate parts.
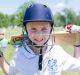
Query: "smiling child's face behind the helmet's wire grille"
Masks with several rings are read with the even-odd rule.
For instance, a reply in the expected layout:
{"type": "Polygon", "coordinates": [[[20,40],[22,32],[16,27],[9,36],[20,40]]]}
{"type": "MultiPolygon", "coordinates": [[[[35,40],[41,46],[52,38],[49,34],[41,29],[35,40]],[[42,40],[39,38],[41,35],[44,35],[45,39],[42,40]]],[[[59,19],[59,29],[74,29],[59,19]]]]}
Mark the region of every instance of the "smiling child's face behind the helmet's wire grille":
{"type": "Polygon", "coordinates": [[[43,45],[49,38],[51,25],[49,22],[29,22],[26,25],[29,39],[37,45],[43,45]]]}

